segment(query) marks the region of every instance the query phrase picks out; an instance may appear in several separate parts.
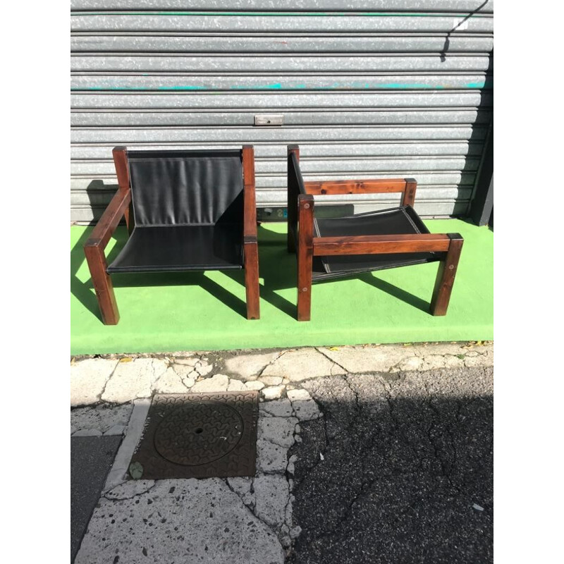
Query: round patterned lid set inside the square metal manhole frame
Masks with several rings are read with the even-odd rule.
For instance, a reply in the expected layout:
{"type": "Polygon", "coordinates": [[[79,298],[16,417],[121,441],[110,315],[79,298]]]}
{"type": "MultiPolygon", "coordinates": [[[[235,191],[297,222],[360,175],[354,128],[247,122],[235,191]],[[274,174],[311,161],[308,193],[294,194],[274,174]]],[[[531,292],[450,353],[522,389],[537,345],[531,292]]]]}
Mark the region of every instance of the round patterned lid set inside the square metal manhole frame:
{"type": "Polygon", "coordinates": [[[243,435],[243,419],[225,403],[178,407],[161,421],[154,446],[166,460],[186,466],[213,462],[231,452],[243,435]]]}

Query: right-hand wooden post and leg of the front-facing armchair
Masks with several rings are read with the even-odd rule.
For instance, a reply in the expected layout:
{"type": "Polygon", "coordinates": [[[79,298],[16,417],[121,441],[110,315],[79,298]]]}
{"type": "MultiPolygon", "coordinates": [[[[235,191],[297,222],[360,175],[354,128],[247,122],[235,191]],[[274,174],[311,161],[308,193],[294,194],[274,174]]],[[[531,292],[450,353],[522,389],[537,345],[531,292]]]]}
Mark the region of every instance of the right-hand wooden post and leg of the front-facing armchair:
{"type": "Polygon", "coordinates": [[[243,266],[245,268],[247,319],[260,319],[255,149],[252,145],[243,145],[243,186],[243,266]]]}

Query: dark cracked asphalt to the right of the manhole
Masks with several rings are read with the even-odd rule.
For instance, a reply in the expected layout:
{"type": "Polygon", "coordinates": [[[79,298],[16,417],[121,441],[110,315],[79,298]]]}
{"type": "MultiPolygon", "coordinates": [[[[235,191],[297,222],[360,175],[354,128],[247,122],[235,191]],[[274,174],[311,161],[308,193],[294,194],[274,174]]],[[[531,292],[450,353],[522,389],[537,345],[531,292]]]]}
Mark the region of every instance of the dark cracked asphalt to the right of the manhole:
{"type": "Polygon", "coordinates": [[[493,369],[302,384],[288,563],[493,562],[493,369]]]}

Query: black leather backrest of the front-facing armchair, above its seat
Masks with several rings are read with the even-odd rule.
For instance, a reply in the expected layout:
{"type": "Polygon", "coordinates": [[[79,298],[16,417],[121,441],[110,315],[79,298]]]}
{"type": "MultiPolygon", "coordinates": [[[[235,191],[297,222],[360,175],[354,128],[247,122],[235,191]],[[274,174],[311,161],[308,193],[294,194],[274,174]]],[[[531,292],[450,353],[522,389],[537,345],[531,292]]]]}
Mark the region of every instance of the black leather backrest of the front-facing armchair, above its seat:
{"type": "Polygon", "coordinates": [[[243,222],[241,151],[128,151],[135,225],[243,222]]]}

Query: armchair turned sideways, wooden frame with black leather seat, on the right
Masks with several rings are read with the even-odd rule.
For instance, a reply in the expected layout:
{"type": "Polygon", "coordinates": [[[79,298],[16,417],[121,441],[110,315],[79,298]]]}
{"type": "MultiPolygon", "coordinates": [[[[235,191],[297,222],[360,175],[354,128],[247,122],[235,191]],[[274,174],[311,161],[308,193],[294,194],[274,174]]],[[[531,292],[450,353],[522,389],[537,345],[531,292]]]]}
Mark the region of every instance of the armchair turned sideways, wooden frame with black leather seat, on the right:
{"type": "Polygon", "coordinates": [[[311,319],[312,283],[423,262],[440,262],[430,309],[446,314],[463,240],[458,233],[429,233],[413,209],[416,189],[413,178],[304,182],[300,148],[288,146],[288,252],[298,259],[298,321],[311,319]],[[314,214],[314,196],[376,192],[403,192],[400,207],[314,214]]]}

